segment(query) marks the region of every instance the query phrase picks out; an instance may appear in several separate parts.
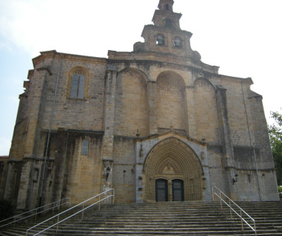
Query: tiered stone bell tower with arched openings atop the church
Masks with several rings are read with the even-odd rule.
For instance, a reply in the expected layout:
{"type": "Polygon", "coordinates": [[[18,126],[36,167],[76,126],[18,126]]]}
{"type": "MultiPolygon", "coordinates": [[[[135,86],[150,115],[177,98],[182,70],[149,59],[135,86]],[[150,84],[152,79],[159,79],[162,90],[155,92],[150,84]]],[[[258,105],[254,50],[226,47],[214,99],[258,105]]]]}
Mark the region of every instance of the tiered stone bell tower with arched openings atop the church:
{"type": "Polygon", "coordinates": [[[152,18],[154,24],[145,25],[143,29],[141,36],[145,42],[135,43],[133,51],[150,51],[152,54],[161,53],[163,56],[172,54],[182,56],[185,60],[196,58],[196,61],[200,61],[200,54],[192,51],[190,46],[192,33],[180,29],[182,14],[173,12],[173,4],[173,0],[159,0],[159,9],[154,11],[152,18]]]}

